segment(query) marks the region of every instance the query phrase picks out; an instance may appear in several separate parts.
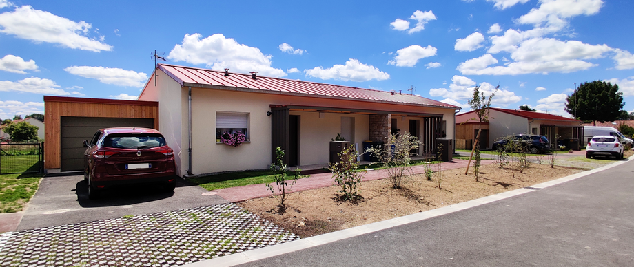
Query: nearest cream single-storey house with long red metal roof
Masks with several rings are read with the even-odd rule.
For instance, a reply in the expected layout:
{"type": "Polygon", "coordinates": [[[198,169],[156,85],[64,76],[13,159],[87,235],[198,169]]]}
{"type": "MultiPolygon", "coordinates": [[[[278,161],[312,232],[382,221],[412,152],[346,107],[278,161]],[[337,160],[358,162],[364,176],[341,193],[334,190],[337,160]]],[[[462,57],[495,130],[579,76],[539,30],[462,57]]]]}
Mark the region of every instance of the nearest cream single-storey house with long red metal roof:
{"type": "Polygon", "coordinates": [[[158,65],[139,100],[159,101],[160,131],[179,175],[266,169],[276,147],[289,166],[325,164],[337,133],[362,147],[409,131],[423,142],[421,153],[433,153],[436,138],[453,138],[460,109],[400,92],[167,64],[158,65]],[[247,142],[218,142],[225,131],[243,131],[247,142]]]}

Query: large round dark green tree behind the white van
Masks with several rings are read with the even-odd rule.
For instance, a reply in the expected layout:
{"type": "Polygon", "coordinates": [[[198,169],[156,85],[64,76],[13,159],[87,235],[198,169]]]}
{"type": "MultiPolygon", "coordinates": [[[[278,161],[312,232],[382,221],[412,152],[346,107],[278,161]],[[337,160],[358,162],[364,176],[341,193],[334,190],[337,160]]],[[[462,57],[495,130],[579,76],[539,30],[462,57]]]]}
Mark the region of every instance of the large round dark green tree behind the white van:
{"type": "Polygon", "coordinates": [[[571,115],[575,115],[576,110],[578,120],[592,120],[593,125],[597,125],[597,121],[617,120],[624,104],[618,85],[591,81],[582,83],[576,92],[566,96],[565,109],[571,115]]]}

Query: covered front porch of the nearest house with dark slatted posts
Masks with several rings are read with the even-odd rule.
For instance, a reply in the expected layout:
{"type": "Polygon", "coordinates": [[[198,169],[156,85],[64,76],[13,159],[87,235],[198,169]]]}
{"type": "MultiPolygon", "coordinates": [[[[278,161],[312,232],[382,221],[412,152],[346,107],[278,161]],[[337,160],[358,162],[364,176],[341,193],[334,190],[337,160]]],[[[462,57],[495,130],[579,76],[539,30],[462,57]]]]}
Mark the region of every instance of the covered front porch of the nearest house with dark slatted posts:
{"type": "Polygon", "coordinates": [[[329,141],[337,133],[361,151],[364,141],[382,142],[390,134],[409,132],[422,142],[420,158],[435,154],[436,138],[447,136],[442,114],[306,105],[270,108],[272,158],[275,148],[282,147],[285,164],[300,169],[327,168],[329,141]]]}

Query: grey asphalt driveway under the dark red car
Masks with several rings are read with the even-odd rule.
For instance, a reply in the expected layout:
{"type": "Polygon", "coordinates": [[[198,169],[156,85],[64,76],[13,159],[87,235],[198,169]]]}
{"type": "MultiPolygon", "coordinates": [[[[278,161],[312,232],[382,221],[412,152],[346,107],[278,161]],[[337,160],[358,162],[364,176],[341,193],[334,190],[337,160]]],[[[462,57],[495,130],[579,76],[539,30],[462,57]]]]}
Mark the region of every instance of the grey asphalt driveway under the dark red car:
{"type": "Polygon", "coordinates": [[[164,193],[161,190],[162,186],[128,186],[104,191],[98,200],[89,200],[83,175],[45,177],[29,202],[17,230],[228,202],[218,195],[202,195],[208,191],[180,179],[176,182],[174,193],[164,193]]]}

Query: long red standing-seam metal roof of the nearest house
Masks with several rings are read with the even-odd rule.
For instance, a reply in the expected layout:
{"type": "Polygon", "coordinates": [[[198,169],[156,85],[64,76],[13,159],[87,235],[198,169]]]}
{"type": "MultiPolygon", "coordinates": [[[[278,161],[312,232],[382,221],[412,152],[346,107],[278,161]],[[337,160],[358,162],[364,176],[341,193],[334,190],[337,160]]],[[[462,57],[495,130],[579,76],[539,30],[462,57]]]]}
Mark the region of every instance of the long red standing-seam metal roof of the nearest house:
{"type": "Polygon", "coordinates": [[[256,79],[253,79],[251,74],[238,74],[232,72],[229,72],[229,76],[225,76],[225,72],[222,71],[167,64],[159,64],[159,69],[165,72],[168,76],[172,77],[174,81],[180,83],[181,86],[210,87],[215,89],[245,89],[250,92],[260,93],[268,92],[319,98],[338,98],[378,103],[395,103],[403,105],[460,109],[460,107],[424,98],[422,96],[399,94],[398,92],[392,94],[391,92],[380,90],[265,76],[257,76],[256,79]]]}

